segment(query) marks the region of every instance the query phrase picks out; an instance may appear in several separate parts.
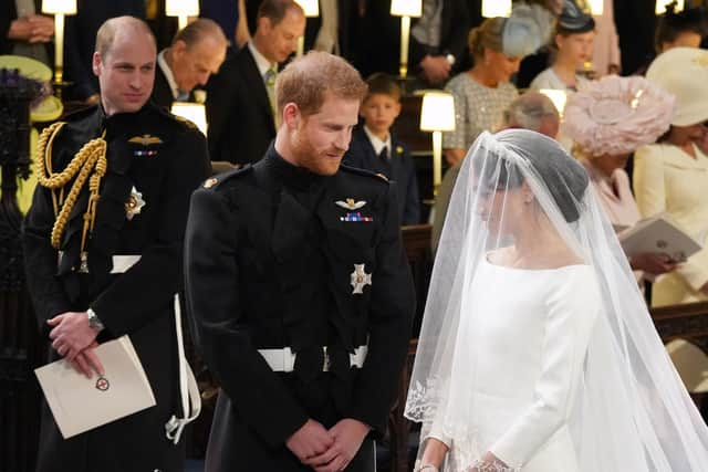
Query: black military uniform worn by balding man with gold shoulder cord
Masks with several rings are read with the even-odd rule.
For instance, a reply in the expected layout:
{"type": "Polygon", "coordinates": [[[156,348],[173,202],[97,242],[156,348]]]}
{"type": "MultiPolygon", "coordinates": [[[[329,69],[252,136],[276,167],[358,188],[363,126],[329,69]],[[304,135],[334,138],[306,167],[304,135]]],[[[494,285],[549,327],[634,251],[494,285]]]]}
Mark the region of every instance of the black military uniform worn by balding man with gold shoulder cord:
{"type": "MultiPolygon", "coordinates": [[[[169,416],[180,412],[171,306],[183,281],[189,197],[209,172],[206,139],[194,126],[150,104],[137,113],[108,118],[101,107],[94,107],[71,117],[58,135],[53,171],[63,170],[85,143],[103,133],[107,172],[101,181],[95,228],[87,244],[88,273],[80,271],[88,183],[71,212],[59,264],[58,250],[50,243],[55,220],[52,195],[38,186],[23,231],[28,285],[45,334],[48,318],[88,307],[106,326],[100,340],[128,334],[157,406],[66,441],[45,411],[39,471],[66,470],[67,464],[73,464],[73,471],[180,466],[179,454],[175,455],[178,448],[164,434],[169,416]],[[128,219],[126,202],[135,192],[145,206],[128,219]],[[121,254],[142,259],[128,272],[111,274],[112,256],[121,254]]],[[[72,185],[67,183],[65,192],[72,185]]]]}

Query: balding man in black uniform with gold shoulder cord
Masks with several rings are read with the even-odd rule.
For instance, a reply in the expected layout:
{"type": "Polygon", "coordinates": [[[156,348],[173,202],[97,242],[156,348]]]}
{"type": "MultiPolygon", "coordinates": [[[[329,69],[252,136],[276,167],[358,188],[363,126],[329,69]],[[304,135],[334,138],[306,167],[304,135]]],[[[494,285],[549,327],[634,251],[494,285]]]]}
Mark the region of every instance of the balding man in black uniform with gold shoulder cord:
{"type": "Polygon", "coordinates": [[[156,46],[140,20],[108,20],[93,70],[101,104],[40,138],[40,186],[23,244],[28,284],[53,353],[87,376],[97,343],[129,335],[156,406],[70,439],[44,405],[38,471],[180,471],[165,423],[183,417],[173,298],[181,285],[189,196],[206,139],[147,104],[156,46]]]}

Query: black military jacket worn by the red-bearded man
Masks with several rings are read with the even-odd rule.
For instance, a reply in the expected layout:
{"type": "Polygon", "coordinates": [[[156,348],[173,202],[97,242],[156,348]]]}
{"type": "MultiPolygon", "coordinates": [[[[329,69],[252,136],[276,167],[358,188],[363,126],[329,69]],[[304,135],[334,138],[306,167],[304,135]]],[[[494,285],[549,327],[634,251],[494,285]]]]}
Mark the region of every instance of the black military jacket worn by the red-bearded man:
{"type": "Polygon", "coordinates": [[[246,423],[263,447],[282,448],[308,418],[330,427],[347,417],[385,430],[415,308],[397,213],[385,179],[346,167],[317,176],[272,145],[263,160],[195,192],[188,304],[232,403],[215,421],[233,411],[223,420],[231,424],[215,424],[211,442],[237,439],[229,429],[246,423]],[[348,354],[367,342],[364,367],[350,368],[348,354]],[[298,353],[294,373],[273,373],[257,349],[285,346],[298,353]],[[334,416],[324,413],[329,403],[334,416]]]}

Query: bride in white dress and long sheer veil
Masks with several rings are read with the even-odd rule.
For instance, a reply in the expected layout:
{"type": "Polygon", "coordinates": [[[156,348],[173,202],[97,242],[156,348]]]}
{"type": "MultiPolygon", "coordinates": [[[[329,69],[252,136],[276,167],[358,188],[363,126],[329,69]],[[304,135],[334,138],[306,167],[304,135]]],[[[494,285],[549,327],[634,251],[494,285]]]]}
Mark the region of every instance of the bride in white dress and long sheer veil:
{"type": "Polygon", "coordinates": [[[580,164],[533,132],[485,133],[447,214],[406,405],[416,471],[708,471],[580,164]]]}

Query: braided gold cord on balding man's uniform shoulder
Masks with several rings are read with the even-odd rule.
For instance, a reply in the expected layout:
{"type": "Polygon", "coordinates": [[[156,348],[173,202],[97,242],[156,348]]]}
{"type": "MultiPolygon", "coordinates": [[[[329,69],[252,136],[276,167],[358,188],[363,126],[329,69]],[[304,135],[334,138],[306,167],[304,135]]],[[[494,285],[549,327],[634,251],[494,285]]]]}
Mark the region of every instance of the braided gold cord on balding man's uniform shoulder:
{"type": "Polygon", "coordinates": [[[37,144],[38,155],[40,159],[37,159],[37,175],[38,181],[42,187],[46,187],[52,190],[52,200],[54,203],[54,216],[56,221],[52,228],[52,247],[59,249],[62,240],[62,234],[66,228],[69,221],[69,214],[71,213],[79,193],[82,187],[86,182],[88,175],[88,206],[84,213],[84,227],[81,234],[81,259],[82,269],[85,269],[86,261],[86,239],[96,220],[96,203],[98,202],[98,190],[101,187],[101,178],[106,175],[108,162],[106,160],[107,144],[104,139],[105,130],[100,138],[95,138],[82,146],[69,162],[69,166],[61,172],[52,171],[52,145],[54,138],[59,135],[59,132],[65,125],[65,122],[58,122],[46,127],[37,144]],[[41,158],[43,157],[43,159],[41,158]],[[77,176],[76,176],[77,175],[77,176]],[[66,196],[64,201],[64,187],[71,179],[76,177],[74,183],[66,196]],[[56,191],[59,190],[59,197],[56,191]]]}

